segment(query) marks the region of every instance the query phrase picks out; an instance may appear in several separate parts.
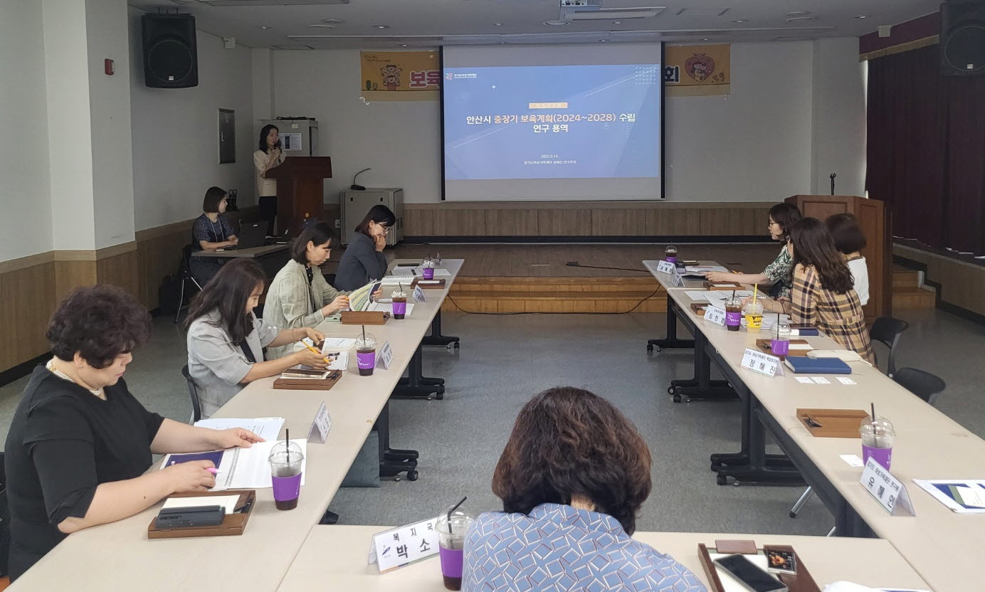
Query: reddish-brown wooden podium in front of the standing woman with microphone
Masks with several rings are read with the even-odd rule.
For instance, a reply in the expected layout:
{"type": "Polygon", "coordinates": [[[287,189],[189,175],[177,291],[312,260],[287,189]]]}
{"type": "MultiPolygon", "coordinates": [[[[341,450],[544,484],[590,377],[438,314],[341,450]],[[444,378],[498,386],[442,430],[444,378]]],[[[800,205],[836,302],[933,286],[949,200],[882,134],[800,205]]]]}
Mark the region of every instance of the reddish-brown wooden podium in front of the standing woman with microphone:
{"type": "Polygon", "coordinates": [[[267,171],[277,179],[277,231],[300,233],[306,220],[321,218],[322,179],[332,176],[328,157],[288,157],[267,171]]]}

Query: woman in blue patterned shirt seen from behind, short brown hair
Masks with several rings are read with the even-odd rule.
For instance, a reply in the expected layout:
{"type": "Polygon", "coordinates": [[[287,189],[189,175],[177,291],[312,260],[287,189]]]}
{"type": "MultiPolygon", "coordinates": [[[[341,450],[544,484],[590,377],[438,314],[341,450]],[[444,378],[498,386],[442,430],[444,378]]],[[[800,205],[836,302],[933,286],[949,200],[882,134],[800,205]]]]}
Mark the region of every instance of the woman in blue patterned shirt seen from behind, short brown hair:
{"type": "Polygon", "coordinates": [[[466,535],[462,589],[703,591],[687,567],[630,538],[650,487],[646,442],[611,403],[571,387],[536,395],[493,473],[503,511],[466,535]],[[563,559],[548,562],[545,546],[563,559]]]}

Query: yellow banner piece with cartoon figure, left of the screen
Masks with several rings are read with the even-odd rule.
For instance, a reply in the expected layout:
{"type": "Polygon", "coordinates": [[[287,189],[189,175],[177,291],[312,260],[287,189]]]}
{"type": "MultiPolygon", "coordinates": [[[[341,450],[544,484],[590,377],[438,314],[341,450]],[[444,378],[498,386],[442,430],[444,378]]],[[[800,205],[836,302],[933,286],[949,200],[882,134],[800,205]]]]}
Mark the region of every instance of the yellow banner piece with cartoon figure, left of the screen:
{"type": "Polygon", "coordinates": [[[367,100],[437,100],[437,51],[361,51],[361,96],[367,100]]]}

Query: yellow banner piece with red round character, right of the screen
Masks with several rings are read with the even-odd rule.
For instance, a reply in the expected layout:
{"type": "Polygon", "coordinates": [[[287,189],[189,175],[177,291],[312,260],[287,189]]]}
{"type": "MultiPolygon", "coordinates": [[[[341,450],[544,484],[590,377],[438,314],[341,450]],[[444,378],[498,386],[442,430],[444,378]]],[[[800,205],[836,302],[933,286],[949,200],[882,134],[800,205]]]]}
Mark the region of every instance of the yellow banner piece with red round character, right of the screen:
{"type": "Polygon", "coordinates": [[[667,97],[728,95],[731,87],[731,45],[667,45],[664,47],[664,91],[667,97]]]}

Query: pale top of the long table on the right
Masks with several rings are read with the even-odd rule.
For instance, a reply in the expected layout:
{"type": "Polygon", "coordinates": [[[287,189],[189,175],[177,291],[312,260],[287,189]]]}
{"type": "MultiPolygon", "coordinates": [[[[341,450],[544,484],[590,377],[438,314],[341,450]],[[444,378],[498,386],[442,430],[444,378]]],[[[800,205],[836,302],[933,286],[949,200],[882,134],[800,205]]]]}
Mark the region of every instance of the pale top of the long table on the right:
{"type": "MultiPolygon", "coordinates": [[[[669,281],[667,274],[654,276],[661,283],[669,281]]],[[[985,478],[985,440],[865,363],[850,364],[849,377],[857,382],[855,385],[842,385],[833,377],[829,377],[831,384],[802,384],[789,371],[784,376],[768,377],[743,368],[740,362],[745,349],[755,349],[755,340],[767,338],[768,331],[727,331],[691,311],[693,300],[685,291],[671,289],[668,294],[691,316],[709,345],[742,377],[763,409],[787,429],[877,535],[888,540],[935,590],[968,589],[962,586],[974,577],[980,550],[985,548],[985,514],[952,512],[912,479],[985,478]],[[861,457],[860,439],[815,437],[796,419],[798,408],[868,410],[871,403],[896,430],[892,474],[906,486],[915,517],[888,515],[859,485],[862,469],[850,467],[839,458],[840,454],[861,457]]],[[[818,349],[841,349],[823,336],[804,339],[818,349]]]]}

